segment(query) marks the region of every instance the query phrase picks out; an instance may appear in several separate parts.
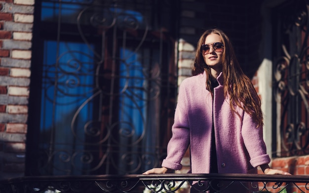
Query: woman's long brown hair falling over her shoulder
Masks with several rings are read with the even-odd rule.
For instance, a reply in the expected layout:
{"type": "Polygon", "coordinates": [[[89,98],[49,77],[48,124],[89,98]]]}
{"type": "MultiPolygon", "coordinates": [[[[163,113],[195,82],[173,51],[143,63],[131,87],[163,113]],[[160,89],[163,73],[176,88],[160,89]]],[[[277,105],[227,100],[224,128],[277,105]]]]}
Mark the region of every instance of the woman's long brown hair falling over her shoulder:
{"type": "MultiPolygon", "coordinates": [[[[222,75],[224,79],[224,95],[230,96],[230,107],[239,117],[239,113],[235,110],[234,105],[239,106],[246,113],[248,113],[257,123],[257,127],[263,126],[263,113],[261,110],[261,100],[253,87],[250,79],[243,73],[229,37],[219,29],[210,29],[205,31],[197,43],[193,75],[203,73],[207,74],[206,87],[212,92],[210,67],[205,63],[201,53],[201,45],[204,44],[206,36],[216,33],[221,36],[224,44],[223,60],[222,60],[222,75]]],[[[212,93],[213,95],[213,93],[212,93]]]]}

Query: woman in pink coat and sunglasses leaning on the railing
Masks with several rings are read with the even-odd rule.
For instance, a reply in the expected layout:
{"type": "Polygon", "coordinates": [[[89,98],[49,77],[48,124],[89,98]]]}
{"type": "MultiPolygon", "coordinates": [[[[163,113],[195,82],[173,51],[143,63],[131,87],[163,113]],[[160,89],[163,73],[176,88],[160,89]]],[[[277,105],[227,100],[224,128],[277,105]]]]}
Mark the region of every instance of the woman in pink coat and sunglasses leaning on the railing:
{"type": "Polygon", "coordinates": [[[263,140],[261,101],[244,75],[228,36],[219,29],[200,37],[193,76],[180,88],[172,138],[161,168],[144,174],[182,168],[190,144],[192,173],[289,173],[271,169],[263,140]]]}

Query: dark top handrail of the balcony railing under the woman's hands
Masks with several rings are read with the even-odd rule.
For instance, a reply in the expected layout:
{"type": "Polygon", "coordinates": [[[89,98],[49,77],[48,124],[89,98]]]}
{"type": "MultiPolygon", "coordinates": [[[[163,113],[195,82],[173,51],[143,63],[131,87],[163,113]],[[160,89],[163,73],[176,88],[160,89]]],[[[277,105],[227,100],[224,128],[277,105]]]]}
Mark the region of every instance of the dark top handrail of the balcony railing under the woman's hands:
{"type": "Polygon", "coordinates": [[[127,174],[127,175],[60,175],[60,176],[24,176],[0,180],[0,184],[11,184],[29,181],[108,181],[108,180],[229,180],[229,181],[259,181],[259,182],[298,182],[309,183],[309,175],[266,175],[266,174],[127,174]]]}

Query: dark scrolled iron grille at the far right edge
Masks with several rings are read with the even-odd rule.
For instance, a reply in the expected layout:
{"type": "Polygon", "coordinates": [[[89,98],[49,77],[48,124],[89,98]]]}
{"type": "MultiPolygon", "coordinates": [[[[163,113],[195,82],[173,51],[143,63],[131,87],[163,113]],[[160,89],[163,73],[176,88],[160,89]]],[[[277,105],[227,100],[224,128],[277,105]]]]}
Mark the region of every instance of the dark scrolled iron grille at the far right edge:
{"type": "Polygon", "coordinates": [[[309,153],[309,1],[299,0],[294,6],[281,16],[284,56],[274,69],[281,132],[277,156],[282,157],[309,153]]]}

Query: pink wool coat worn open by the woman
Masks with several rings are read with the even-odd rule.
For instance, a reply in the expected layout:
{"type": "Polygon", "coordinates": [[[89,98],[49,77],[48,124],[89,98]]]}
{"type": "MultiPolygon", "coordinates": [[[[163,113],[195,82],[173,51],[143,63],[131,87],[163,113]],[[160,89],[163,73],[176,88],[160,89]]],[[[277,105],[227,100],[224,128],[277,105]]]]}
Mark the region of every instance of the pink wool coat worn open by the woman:
{"type": "Polygon", "coordinates": [[[269,163],[262,128],[236,107],[241,119],[224,97],[222,73],[214,99],[206,89],[206,73],[185,79],[180,88],[172,138],[162,167],[179,170],[190,145],[191,172],[209,173],[212,123],[214,123],[219,173],[257,173],[257,166],[269,163]],[[214,117],[212,116],[214,115],[214,117]]]}

